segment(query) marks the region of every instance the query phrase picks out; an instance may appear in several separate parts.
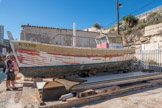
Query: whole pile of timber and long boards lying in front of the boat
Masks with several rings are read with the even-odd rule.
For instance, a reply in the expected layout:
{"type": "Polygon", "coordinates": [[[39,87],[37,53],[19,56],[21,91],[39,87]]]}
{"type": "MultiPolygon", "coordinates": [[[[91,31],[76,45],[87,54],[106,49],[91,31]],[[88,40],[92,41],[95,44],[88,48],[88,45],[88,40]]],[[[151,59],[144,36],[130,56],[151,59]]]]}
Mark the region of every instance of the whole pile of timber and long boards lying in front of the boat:
{"type": "MultiPolygon", "coordinates": [[[[104,99],[109,96],[119,95],[148,87],[155,87],[162,84],[162,74],[159,72],[133,72],[80,79],[87,81],[80,85],[75,85],[72,88],[69,86],[70,92],[68,94],[63,94],[60,97],[60,101],[44,101],[45,105],[41,106],[41,108],[73,107],[79,104],[104,99]]],[[[61,79],[60,82],[62,81],[63,80],[61,79]]],[[[67,82],[64,84],[69,85],[67,82]]],[[[69,87],[67,86],[67,88],[69,87]]]]}

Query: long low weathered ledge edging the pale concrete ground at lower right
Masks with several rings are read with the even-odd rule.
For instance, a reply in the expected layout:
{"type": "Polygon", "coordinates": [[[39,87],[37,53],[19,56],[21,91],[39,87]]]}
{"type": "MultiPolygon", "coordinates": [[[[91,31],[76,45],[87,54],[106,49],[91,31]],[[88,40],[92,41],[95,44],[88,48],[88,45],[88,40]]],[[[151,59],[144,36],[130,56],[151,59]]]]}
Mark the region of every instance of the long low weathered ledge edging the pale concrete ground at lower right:
{"type": "MultiPolygon", "coordinates": [[[[162,81],[162,79],[161,79],[162,81]]],[[[105,98],[114,98],[115,95],[120,95],[123,93],[127,93],[127,92],[131,92],[131,91],[135,91],[135,90],[147,90],[147,88],[157,88],[157,87],[161,87],[162,83],[157,83],[152,84],[152,83],[148,83],[143,82],[143,83],[137,83],[137,84],[130,84],[128,86],[125,87],[121,87],[119,90],[115,90],[115,91],[111,91],[111,92],[105,92],[105,93],[97,93],[96,95],[91,95],[91,96],[86,96],[86,97],[73,97],[73,98],[69,98],[66,100],[66,102],[46,102],[45,106],[41,106],[41,108],[70,108],[70,107],[75,107],[78,106],[80,104],[85,104],[85,103],[89,103],[92,101],[97,101],[100,99],[105,99],[105,98]]]]}

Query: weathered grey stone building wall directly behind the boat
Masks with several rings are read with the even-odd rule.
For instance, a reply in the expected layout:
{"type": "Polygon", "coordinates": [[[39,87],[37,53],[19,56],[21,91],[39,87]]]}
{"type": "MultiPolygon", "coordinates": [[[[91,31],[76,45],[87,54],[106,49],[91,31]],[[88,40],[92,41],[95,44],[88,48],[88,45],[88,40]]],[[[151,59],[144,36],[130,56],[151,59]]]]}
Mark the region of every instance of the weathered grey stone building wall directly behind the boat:
{"type": "MultiPolygon", "coordinates": [[[[22,26],[21,40],[41,42],[55,45],[72,46],[72,35],[73,30],[69,29],[56,29],[47,27],[36,27],[36,26],[22,26]]],[[[99,33],[87,32],[87,31],[76,31],[76,46],[78,47],[96,47],[94,39],[99,33]],[[86,38],[83,38],[86,37],[86,38]],[[91,38],[91,39],[89,39],[91,38]]]]}

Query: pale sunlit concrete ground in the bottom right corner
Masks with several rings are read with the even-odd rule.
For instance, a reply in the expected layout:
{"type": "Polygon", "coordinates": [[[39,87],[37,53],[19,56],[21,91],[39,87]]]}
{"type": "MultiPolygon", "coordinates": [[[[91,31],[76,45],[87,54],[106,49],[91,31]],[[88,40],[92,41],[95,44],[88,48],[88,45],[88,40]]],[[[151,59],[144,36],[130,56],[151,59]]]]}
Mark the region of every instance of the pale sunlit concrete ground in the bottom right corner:
{"type": "Polygon", "coordinates": [[[162,108],[162,86],[146,88],[75,108],[162,108]]]}

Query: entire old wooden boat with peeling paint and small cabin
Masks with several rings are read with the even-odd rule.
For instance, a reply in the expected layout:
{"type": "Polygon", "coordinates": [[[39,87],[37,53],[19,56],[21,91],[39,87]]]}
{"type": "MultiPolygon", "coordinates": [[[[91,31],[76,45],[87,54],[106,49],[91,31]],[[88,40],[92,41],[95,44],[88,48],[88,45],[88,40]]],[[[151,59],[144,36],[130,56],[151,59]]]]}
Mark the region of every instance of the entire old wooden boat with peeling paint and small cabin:
{"type": "Polygon", "coordinates": [[[18,41],[8,34],[20,71],[27,77],[120,70],[135,53],[135,49],[123,48],[121,36],[99,36],[97,48],[89,48],[18,41]]]}

